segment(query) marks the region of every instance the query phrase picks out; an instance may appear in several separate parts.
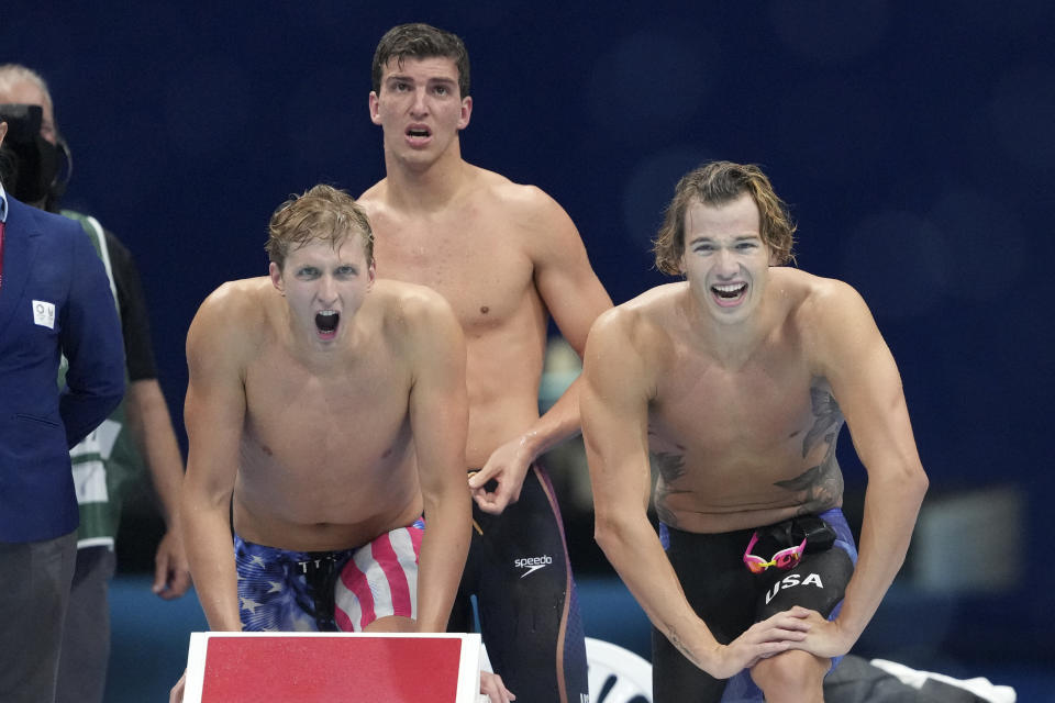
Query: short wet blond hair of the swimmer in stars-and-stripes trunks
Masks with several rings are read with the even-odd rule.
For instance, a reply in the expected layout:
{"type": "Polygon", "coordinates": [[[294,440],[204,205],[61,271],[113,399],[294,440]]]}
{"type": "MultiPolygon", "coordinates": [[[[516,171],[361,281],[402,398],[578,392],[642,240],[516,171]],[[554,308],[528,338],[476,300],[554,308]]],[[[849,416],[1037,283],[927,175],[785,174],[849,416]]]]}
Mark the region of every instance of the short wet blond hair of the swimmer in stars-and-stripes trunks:
{"type": "Polygon", "coordinates": [[[366,211],[355,198],[332,186],[319,185],[291,196],[271,215],[267,234],[264,248],[279,270],[290,252],[310,242],[324,242],[337,249],[353,234],[363,238],[367,266],[374,264],[374,231],[366,211]]]}

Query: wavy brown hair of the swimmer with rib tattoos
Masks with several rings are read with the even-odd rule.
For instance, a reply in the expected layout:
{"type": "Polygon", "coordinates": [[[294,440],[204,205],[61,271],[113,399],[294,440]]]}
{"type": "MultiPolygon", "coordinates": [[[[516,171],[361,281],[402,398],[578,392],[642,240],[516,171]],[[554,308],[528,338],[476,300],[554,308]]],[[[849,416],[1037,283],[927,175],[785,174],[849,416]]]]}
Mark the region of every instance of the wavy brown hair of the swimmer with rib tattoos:
{"type": "Polygon", "coordinates": [[[754,164],[708,161],[681,177],[674,189],[674,199],[667,205],[663,226],[653,242],[656,268],[664,274],[681,272],[685,253],[685,213],[693,202],[723,205],[748,193],[758,207],[759,234],[778,264],[795,261],[796,225],[788,207],[773,190],[773,185],[754,164]]]}

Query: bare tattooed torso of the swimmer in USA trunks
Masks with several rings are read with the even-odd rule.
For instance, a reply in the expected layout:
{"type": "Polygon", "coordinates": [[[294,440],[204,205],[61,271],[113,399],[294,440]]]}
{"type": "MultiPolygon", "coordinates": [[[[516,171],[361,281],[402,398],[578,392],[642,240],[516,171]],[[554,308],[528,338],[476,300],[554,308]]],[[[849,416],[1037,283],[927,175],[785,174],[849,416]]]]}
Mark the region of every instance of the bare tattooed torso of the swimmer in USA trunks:
{"type": "Polygon", "coordinates": [[[679,289],[658,289],[638,312],[653,339],[648,444],[659,518],[714,533],[841,505],[835,440],[844,420],[811,368],[795,295],[765,341],[731,368],[677,314],[679,289]]]}

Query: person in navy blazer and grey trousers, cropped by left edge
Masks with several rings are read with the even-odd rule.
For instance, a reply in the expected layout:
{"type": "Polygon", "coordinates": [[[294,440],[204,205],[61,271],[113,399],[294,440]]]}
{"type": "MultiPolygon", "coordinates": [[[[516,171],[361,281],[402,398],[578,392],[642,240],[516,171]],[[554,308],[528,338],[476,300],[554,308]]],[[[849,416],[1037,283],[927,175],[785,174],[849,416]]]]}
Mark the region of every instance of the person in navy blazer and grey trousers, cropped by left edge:
{"type": "Polygon", "coordinates": [[[90,239],[8,191],[27,172],[8,130],[0,116],[0,701],[47,703],[77,551],[69,449],[121,401],[124,352],[90,239]]]}

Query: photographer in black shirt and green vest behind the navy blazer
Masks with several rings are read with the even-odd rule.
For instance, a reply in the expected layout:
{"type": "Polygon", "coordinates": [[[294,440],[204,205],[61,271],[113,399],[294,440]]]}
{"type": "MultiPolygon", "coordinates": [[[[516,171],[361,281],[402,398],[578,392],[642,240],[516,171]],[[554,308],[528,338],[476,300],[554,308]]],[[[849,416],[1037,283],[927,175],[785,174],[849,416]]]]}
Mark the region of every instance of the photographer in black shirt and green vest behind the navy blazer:
{"type": "Polygon", "coordinates": [[[43,78],[18,64],[0,66],[0,114],[19,124],[9,140],[10,191],[42,210],[78,221],[104,263],[116,300],[127,360],[124,402],[93,428],[73,454],[80,504],[77,568],[68,611],[59,683],[59,702],[99,702],[106,689],[110,652],[109,582],[115,568],[122,493],[142,472],[143,459],[165,516],[167,532],[155,557],[154,591],[163,599],[182,595],[190,574],[178,528],[178,490],[182,457],[168,406],[157,380],[148,314],[135,261],[127,248],[92,216],[60,210],[71,170],[68,146],[55,122],[51,92],[43,78]],[[30,126],[29,108],[38,118],[30,126]]]}

